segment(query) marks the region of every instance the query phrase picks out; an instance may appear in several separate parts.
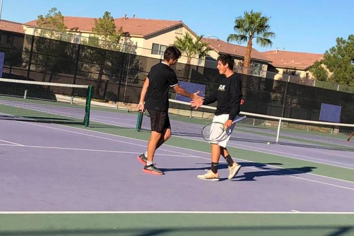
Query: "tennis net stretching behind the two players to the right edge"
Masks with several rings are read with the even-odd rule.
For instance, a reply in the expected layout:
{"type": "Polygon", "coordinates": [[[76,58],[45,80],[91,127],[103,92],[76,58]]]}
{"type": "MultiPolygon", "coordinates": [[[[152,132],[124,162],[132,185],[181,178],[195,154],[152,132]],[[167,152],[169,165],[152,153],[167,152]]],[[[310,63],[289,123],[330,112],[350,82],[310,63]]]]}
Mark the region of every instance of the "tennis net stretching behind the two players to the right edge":
{"type": "MultiPolygon", "coordinates": [[[[169,117],[172,134],[202,137],[202,128],[212,121],[216,108],[201,106],[193,110],[189,103],[171,100],[169,117]]],[[[277,143],[292,146],[354,150],[346,140],[354,124],[332,123],[240,112],[246,116],[237,123],[231,140],[256,143],[277,143]]],[[[150,131],[148,116],[138,116],[136,129],[150,131]]]]}

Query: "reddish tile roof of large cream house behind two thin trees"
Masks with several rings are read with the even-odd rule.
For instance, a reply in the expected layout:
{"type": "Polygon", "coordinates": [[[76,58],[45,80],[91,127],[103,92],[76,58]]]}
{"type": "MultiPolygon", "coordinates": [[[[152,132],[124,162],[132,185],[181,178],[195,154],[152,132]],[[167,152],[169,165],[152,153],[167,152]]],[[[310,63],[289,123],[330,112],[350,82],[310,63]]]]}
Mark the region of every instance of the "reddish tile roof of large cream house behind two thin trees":
{"type": "MultiPolygon", "coordinates": [[[[96,18],[64,16],[64,24],[68,29],[91,31],[96,18]]],[[[116,18],[117,30],[122,27],[124,32],[132,35],[148,36],[164,29],[178,25],[184,25],[182,21],[154,20],[141,18],[116,18]]],[[[27,22],[27,25],[35,26],[37,20],[27,22]]]]}

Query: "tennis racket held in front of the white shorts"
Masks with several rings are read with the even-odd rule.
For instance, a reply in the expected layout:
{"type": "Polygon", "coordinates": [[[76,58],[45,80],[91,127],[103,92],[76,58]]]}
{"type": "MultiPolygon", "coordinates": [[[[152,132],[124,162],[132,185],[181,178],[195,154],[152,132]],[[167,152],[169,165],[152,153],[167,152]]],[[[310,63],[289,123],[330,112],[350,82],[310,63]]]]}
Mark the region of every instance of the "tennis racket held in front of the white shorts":
{"type": "MultiPolygon", "coordinates": [[[[246,116],[244,117],[239,117],[235,119],[232,124],[235,124],[243,119],[245,119],[246,116]]],[[[221,122],[211,122],[205,125],[202,129],[202,136],[203,139],[207,140],[208,142],[213,142],[213,141],[222,141],[222,139],[225,137],[227,138],[228,129],[225,127],[224,123],[221,122]]]]}

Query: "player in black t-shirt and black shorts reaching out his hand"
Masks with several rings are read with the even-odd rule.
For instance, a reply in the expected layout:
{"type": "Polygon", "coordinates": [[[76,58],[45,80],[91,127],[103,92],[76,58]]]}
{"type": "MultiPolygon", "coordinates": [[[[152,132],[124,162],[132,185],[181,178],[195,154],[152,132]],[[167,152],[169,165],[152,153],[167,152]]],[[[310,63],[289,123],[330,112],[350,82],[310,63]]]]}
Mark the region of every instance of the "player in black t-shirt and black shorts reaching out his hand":
{"type": "Polygon", "coordinates": [[[151,121],[151,137],[148,150],[138,156],[138,160],[145,166],[143,171],[154,175],[163,175],[163,172],[152,164],[155,150],[171,137],[171,125],[168,116],[168,92],[173,88],[177,93],[192,100],[203,102],[198,92],[189,93],[178,85],[177,76],[170,68],[180,58],[181,52],[176,47],[168,47],[164,53],[164,60],[151,67],[144,82],[138,109],[147,109],[151,121]],[[144,103],[145,102],[145,103],[144,103]]]}

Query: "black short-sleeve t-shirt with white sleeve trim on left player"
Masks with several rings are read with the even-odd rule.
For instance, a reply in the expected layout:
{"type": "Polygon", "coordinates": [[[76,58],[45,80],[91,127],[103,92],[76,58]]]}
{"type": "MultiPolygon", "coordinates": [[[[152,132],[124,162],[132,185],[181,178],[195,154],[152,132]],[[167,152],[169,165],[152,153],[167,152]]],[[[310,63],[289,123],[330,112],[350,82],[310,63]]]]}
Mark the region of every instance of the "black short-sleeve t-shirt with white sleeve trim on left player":
{"type": "Polygon", "coordinates": [[[169,107],[168,91],[170,87],[178,85],[175,71],[161,62],[151,67],[147,79],[149,85],[145,97],[145,108],[167,112],[169,107]]]}

